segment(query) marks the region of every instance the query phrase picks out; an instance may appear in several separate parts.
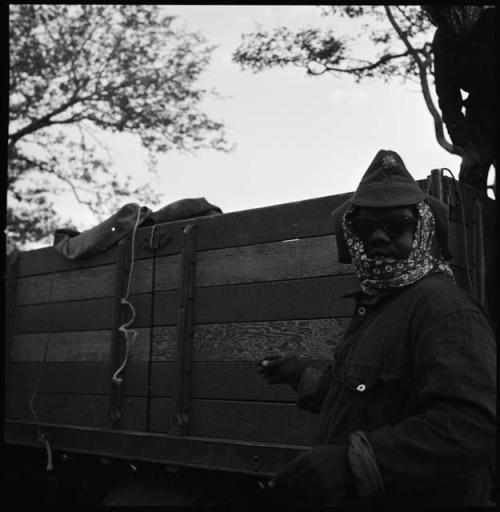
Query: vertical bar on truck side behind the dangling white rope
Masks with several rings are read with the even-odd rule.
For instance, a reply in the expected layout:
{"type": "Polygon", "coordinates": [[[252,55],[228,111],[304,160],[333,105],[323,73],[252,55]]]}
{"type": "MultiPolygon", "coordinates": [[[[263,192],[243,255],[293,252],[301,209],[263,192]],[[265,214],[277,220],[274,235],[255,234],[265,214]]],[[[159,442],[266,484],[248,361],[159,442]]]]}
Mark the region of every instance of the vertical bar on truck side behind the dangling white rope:
{"type": "Polygon", "coordinates": [[[122,412],[122,385],[114,382],[112,376],[119,368],[120,362],[123,359],[123,340],[121,333],[118,330],[123,323],[123,308],[121,307],[121,298],[125,292],[125,274],[127,272],[127,254],[128,254],[128,239],[124,238],[118,242],[117,255],[116,255],[116,271],[115,271],[115,303],[113,309],[113,323],[111,334],[111,353],[110,353],[110,384],[109,384],[109,418],[113,427],[119,427],[121,423],[122,412]]]}

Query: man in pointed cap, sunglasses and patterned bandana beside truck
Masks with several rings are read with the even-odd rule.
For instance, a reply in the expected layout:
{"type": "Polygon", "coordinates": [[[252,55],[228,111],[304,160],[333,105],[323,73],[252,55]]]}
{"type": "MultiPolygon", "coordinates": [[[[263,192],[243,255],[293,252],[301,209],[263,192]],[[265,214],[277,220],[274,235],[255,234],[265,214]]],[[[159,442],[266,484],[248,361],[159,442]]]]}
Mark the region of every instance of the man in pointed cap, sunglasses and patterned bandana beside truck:
{"type": "Polygon", "coordinates": [[[446,205],[382,150],[333,217],[361,290],[325,372],[291,357],[260,364],[320,414],[312,449],[271,487],[316,505],[491,505],[496,345],[442,257],[446,205]]]}

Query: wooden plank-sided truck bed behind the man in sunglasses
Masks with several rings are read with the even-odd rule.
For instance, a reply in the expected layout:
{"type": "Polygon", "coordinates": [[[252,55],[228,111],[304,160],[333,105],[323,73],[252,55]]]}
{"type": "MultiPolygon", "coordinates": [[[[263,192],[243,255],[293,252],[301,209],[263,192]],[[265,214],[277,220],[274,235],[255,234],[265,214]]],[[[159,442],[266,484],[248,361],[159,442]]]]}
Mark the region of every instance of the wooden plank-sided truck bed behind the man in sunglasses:
{"type": "MultiPolygon", "coordinates": [[[[462,189],[472,245],[474,194],[462,189]]],[[[342,295],[357,287],[336,261],[330,220],[349,196],[140,228],[129,296],[138,335],[121,386],[111,376],[124,356],[131,237],[81,261],[52,247],[21,253],[7,276],[6,442],[41,447],[45,433],[55,450],[277,471],[311,444],[317,417],[286,385],[266,384],[256,362],[275,351],[318,367],[330,358],[353,306],[342,295]]],[[[493,308],[491,203],[482,233],[493,308]]],[[[452,205],[453,269],[467,286],[460,220],[452,205]]]]}

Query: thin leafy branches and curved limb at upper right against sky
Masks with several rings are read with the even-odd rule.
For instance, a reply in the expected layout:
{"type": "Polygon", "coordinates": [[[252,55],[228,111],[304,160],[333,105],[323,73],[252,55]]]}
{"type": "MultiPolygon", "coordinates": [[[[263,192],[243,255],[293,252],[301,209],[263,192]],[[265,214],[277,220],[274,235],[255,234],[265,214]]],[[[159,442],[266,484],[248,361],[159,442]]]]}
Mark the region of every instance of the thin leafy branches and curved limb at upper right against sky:
{"type": "MultiPolygon", "coordinates": [[[[297,66],[312,76],[331,73],[351,76],[355,82],[369,78],[384,81],[399,78],[420,85],[425,104],[434,120],[438,143],[450,153],[459,150],[445,137],[441,114],[431,94],[433,82],[431,42],[434,29],[418,5],[332,5],[321,7],[325,16],[338,16],[362,22],[353,38],[333,30],[286,27],[268,31],[257,27],[245,34],[233,53],[243,69],[255,72],[271,67],[297,66]],[[355,49],[356,42],[367,39],[372,55],[355,49]]],[[[366,47],[362,50],[366,52],[366,47]]]]}

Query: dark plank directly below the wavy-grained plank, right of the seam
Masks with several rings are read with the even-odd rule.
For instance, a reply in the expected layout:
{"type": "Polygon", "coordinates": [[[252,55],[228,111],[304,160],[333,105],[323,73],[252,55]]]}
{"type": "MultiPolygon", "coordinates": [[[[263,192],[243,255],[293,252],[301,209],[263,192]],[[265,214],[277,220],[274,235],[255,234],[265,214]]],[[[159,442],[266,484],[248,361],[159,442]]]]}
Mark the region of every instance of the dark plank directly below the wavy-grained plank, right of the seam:
{"type": "MultiPolygon", "coordinates": [[[[315,368],[325,368],[329,361],[307,361],[315,368]]],[[[175,363],[153,363],[151,396],[172,397],[175,363]]],[[[225,400],[257,400],[295,403],[297,393],[287,384],[268,384],[258,374],[254,362],[195,362],[192,373],[192,397],[225,400]]]]}

